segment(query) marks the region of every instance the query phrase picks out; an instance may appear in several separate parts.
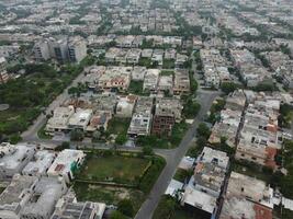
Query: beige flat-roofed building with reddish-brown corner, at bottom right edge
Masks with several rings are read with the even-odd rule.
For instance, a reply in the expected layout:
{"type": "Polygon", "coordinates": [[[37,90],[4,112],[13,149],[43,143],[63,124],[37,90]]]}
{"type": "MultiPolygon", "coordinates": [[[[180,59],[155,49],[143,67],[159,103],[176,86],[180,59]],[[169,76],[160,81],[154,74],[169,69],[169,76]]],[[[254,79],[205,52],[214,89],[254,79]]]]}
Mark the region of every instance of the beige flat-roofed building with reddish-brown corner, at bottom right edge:
{"type": "Polygon", "coordinates": [[[272,219],[272,196],[264,182],[232,172],[219,219],[272,219]]]}

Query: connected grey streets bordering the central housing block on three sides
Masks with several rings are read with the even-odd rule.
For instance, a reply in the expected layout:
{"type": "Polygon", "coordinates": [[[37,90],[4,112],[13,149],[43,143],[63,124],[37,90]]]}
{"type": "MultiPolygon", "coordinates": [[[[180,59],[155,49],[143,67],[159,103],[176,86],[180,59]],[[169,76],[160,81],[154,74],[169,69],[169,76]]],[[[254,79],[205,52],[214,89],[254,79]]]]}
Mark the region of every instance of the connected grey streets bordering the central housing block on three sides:
{"type": "MultiPolygon", "coordinates": [[[[194,68],[194,67],[193,67],[194,68]]],[[[66,99],[69,97],[68,95],[68,89],[72,85],[77,85],[78,82],[82,80],[83,76],[82,73],[78,76],[72,83],[59,95],[57,99],[52,102],[52,104],[47,107],[46,114],[50,114],[50,112],[59,106],[66,99]]],[[[182,139],[181,143],[177,149],[156,149],[155,152],[157,154],[162,155],[166,159],[166,166],[162,170],[158,181],[154,185],[150,194],[148,195],[148,198],[140,207],[139,211],[137,212],[135,219],[149,219],[153,217],[153,214],[159,203],[159,199],[161,195],[165,193],[166,188],[169,185],[169,182],[174,175],[176,169],[183,158],[183,155],[187,153],[192,140],[194,139],[194,136],[196,134],[196,128],[200,122],[204,119],[205,114],[211,108],[211,105],[216,96],[219,95],[219,92],[216,91],[205,91],[205,90],[199,90],[198,91],[198,101],[201,104],[201,111],[199,112],[199,115],[194,118],[193,124],[191,125],[190,129],[185,134],[184,138],[182,139]]],[[[40,115],[35,123],[22,134],[23,141],[34,142],[34,143],[46,143],[48,146],[56,146],[59,145],[61,141],[59,140],[45,140],[45,139],[38,139],[37,131],[40,128],[46,123],[46,116],[44,114],[40,115]]],[[[71,145],[75,145],[75,142],[71,142],[71,145]]],[[[84,148],[91,148],[91,143],[77,143],[79,147],[84,148]]],[[[94,148],[101,148],[106,149],[111,148],[113,146],[109,145],[94,145],[94,148]]],[[[140,148],[122,148],[123,150],[132,150],[132,151],[139,151],[140,148]]]]}

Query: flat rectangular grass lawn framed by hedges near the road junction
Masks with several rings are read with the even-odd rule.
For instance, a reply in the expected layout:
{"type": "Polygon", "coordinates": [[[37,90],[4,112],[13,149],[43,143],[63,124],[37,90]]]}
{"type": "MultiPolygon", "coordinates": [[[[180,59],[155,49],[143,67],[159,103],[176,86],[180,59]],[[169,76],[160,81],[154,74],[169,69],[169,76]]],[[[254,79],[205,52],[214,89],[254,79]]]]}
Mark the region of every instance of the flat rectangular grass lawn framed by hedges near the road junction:
{"type": "Polygon", "coordinates": [[[148,163],[148,160],[140,158],[91,155],[78,178],[136,184],[148,163]]]}

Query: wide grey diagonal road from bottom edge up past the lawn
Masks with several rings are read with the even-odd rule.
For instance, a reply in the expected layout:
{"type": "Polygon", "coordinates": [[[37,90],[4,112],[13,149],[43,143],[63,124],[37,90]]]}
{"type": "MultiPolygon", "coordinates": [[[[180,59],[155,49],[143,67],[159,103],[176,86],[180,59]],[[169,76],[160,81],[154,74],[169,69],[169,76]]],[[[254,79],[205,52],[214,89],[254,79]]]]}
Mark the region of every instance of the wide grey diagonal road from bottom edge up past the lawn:
{"type": "Polygon", "coordinates": [[[218,92],[212,92],[212,91],[200,91],[198,93],[198,100],[201,104],[201,111],[199,115],[195,117],[193,124],[185,134],[179,147],[174,149],[174,151],[166,158],[167,164],[162,170],[158,181],[154,185],[146,201],[143,204],[139,211],[137,212],[135,219],[150,219],[153,217],[153,214],[159,203],[161,195],[164,195],[165,191],[167,189],[169,182],[174,175],[179,162],[187,153],[191,145],[191,141],[193,140],[196,134],[196,128],[199,123],[204,119],[206,112],[211,108],[214,99],[218,94],[219,94],[218,92]]]}

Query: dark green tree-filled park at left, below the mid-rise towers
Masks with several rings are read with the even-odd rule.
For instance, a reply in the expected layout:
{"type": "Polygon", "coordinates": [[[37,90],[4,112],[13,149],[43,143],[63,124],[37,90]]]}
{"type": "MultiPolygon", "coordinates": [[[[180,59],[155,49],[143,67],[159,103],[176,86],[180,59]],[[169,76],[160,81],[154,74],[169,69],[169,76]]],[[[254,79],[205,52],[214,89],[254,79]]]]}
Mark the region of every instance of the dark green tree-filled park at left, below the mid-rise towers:
{"type": "Polygon", "coordinates": [[[0,85],[1,103],[10,104],[0,112],[0,132],[18,134],[27,129],[33,120],[83,69],[82,66],[63,66],[59,71],[52,66],[19,66],[25,74],[0,85]]]}

